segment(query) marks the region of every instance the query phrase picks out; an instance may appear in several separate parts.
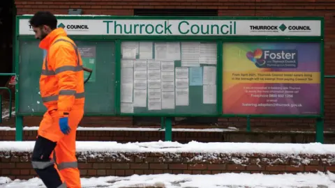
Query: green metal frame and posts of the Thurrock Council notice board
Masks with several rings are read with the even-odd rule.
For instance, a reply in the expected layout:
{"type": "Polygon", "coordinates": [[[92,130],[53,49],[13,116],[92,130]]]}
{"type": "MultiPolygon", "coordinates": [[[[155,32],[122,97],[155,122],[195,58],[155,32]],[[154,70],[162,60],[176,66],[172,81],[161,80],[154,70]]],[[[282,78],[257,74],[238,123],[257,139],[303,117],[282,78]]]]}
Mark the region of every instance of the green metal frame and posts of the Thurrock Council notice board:
{"type": "MultiPolygon", "coordinates": [[[[15,72],[17,74],[17,79],[20,80],[19,73],[19,47],[18,41],[20,40],[35,40],[34,36],[19,36],[19,23],[20,19],[29,19],[31,16],[17,16],[16,18],[16,35],[15,35],[15,72]]],[[[218,63],[216,66],[217,69],[217,113],[212,115],[204,115],[204,116],[212,116],[212,117],[224,117],[224,118],[247,118],[247,130],[251,131],[250,126],[250,118],[317,118],[317,135],[316,139],[319,142],[323,142],[323,118],[324,118],[324,56],[323,56],[323,47],[324,47],[324,18],[323,17],[133,17],[133,16],[59,16],[57,19],[101,19],[101,20],[110,20],[110,19],[202,19],[202,20],[320,20],[321,22],[321,36],[115,36],[115,35],[103,35],[103,36],[70,36],[73,40],[82,40],[82,41],[101,41],[101,40],[110,40],[115,42],[115,53],[116,53],[116,65],[115,65],[115,74],[116,74],[116,93],[115,93],[115,105],[116,105],[116,113],[93,113],[87,114],[85,116],[160,116],[162,117],[162,121],[165,121],[165,130],[166,136],[165,139],[171,140],[170,129],[171,129],[171,117],[175,116],[199,116],[193,114],[158,114],[158,113],[139,113],[139,114],[121,114],[120,110],[120,79],[121,79],[121,42],[122,41],[206,41],[206,42],[217,42],[217,51],[218,51],[218,63]],[[223,75],[221,73],[223,66],[223,42],[320,42],[321,46],[321,70],[320,70],[320,105],[321,111],[320,114],[317,115],[276,115],[276,114],[222,114],[222,79],[223,75]]],[[[335,77],[335,76],[334,76],[335,77]]],[[[19,86],[20,81],[17,81],[17,87],[19,86]]],[[[16,90],[15,92],[15,109],[19,110],[19,92],[16,90]]],[[[17,113],[17,140],[22,140],[22,116],[40,116],[43,114],[40,113],[17,113]],[[21,136],[19,135],[21,134],[21,136]]]]}

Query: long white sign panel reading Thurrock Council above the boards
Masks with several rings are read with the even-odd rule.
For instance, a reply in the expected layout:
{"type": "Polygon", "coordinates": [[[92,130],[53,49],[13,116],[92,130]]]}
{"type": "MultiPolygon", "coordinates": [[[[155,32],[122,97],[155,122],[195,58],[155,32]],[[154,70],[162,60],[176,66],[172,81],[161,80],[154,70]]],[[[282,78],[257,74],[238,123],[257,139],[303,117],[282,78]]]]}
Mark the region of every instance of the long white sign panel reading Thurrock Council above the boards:
{"type": "MultiPolygon", "coordinates": [[[[321,36],[320,20],[59,19],[68,35],[321,36]]],[[[34,35],[20,19],[20,35],[34,35]]]]}

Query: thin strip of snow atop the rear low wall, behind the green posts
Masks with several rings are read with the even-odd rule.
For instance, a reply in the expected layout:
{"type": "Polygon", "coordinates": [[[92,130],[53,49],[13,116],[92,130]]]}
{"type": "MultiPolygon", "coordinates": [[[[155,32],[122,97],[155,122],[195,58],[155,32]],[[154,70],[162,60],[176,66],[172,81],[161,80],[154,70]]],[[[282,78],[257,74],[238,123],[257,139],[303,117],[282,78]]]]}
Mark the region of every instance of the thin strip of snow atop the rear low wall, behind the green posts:
{"type": "MultiPolygon", "coordinates": [[[[0,130],[15,131],[13,127],[0,127],[0,130]]],[[[38,130],[38,127],[23,127],[23,130],[38,130]]],[[[78,127],[78,131],[164,131],[161,128],[149,128],[149,127],[78,127]]],[[[228,129],[182,129],[172,128],[172,132],[225,132],[225,131],[236,131],[236,127],[228,127],[228,129]]]]}

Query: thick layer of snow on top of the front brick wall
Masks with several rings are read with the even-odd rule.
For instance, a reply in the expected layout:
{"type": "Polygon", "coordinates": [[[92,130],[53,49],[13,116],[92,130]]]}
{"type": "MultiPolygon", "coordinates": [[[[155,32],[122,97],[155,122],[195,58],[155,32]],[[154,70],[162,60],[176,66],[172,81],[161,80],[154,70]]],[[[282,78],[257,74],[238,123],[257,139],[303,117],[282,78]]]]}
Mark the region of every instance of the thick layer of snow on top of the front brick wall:
{"type": "MultiPolygon", "coordinates": [[[[34,141],[0,141],[0,151],[31,152],[34,141]]],[[[77,152],[195,152],[260,153],[278,155],[335,155],[334,144],[321,143],[178,143],[153,141],[117,143],[115,141],[77,141],[77,152]]]]}

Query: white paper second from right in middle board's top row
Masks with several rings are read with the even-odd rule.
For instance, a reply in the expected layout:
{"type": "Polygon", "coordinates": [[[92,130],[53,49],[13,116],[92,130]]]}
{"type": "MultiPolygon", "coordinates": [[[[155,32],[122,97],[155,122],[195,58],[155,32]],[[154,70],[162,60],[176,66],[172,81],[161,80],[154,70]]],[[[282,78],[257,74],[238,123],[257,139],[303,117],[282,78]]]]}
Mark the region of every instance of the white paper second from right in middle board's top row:
{"type": "Polygon", "coordinates": [[[200,42],[181,42],[181,66],[200,66],[200,42]]]}

